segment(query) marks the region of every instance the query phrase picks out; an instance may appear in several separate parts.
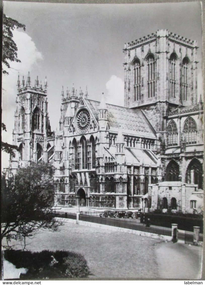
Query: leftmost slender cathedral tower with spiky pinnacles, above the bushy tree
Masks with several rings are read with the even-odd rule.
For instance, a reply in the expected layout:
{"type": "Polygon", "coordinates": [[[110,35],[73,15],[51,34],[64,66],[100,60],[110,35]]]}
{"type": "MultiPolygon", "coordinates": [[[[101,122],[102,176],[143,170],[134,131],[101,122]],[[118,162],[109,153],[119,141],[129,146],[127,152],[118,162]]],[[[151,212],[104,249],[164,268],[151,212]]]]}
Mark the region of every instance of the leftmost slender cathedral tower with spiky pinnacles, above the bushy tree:
{"type": "Polygon", "coordinates": [[[31,162],[48,160],[47,135],[50,132],[47,101],[47,80],[44,85],[37,79],[31,84],[30,73],[22,83],[18,77],[15,128],[13,144],[19,147],[10,160],[10,169],[15,173],[18,167],[26,167],[31,162]]]}

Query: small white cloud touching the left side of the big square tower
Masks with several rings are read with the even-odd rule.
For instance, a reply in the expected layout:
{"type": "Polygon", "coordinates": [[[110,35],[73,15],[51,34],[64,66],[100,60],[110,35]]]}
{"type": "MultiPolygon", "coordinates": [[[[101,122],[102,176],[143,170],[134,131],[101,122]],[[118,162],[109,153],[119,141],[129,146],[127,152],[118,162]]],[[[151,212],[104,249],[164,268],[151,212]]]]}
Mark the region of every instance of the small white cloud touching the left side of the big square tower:
{"type": "Polygon", "coordinates": [[[124,106],[124,82],[116,75],[112,75],[110,80],[106,83],[108,95],[106,103],[118,106],[124,106]]]}

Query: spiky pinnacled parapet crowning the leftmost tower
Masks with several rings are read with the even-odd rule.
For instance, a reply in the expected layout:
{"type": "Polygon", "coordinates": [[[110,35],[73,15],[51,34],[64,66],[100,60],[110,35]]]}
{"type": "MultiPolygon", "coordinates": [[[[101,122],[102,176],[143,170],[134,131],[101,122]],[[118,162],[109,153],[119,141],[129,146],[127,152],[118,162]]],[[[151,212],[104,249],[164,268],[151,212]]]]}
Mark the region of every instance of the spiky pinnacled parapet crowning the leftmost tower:
{"type": "Polygon", "coordinates": [[[37,93],[41,93],[43,95],[46,95],[47,94],[47,87],[48,87],[48,84],[47,84],[46,78],[45,78],[44,85],[42,85],[41,81],[39,83],[38,76],[37,76],[37,78],[35,79],[35,82],[34,82],[34,86],[32,86],[31,80],[30,80],[30,72],[28,72],[28,77],[27,77],[26,82],[25,82],[24,76],[23,76],[22,82],[20,83],[20,77],[18,75],[18,80],[17,80],[18,94],[17,95],[20,95],[21,93],[24,93],[26,91],[32,91],[32,92],[37,92],[37,93]]]}

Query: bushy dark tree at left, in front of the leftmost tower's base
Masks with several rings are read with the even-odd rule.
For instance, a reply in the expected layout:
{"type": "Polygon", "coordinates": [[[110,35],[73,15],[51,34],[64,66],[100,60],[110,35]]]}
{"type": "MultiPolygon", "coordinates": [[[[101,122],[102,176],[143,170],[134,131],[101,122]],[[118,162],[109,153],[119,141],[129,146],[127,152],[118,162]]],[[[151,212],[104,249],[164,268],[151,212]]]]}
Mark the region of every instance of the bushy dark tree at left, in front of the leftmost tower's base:
{"type": "Polygon", "coordinates": [[[25,242],[38,229],[57,231],[62,222],[55,219],[53,203],[53,169],[48,164],[19,168],[8,181],[4,176],[1,240],[6,239],[5,247],[11,247],[11,240],[25,242]]]}

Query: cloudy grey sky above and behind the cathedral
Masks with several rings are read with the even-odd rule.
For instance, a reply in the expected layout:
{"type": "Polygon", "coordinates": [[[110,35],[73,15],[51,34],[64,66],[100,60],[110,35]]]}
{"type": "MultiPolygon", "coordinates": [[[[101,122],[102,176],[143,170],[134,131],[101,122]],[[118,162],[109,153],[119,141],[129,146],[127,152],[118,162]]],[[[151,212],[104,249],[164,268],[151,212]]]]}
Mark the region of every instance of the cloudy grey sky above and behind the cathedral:
{"type": "MultiPolygon", "coordinates": [[[[18,72],[31,83],[38,75],[48,81],[48,111],[51,129],[59,128],[61,90],[74,84],[90,99],[123,105],[125,42],[158,29],[197,40],[198,93],[202,93],[202,26],[199,2],[160,4],[57,4],[3,2],[3,11],[26,31],[15,30],[14,40],[21,63],[12,63],[9,76],[2,78],[3,118],[7,133],[3,141],[12,143],[18,72]]],[[[26,79],[25,78],[25,79],[26,79]]],[[[5,155],[3,160],[8,160],[5,155]]],[[[3,166],[5,163],[3,163],[3,166]]]]}

